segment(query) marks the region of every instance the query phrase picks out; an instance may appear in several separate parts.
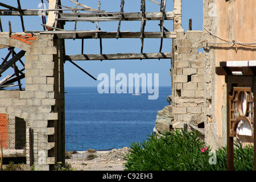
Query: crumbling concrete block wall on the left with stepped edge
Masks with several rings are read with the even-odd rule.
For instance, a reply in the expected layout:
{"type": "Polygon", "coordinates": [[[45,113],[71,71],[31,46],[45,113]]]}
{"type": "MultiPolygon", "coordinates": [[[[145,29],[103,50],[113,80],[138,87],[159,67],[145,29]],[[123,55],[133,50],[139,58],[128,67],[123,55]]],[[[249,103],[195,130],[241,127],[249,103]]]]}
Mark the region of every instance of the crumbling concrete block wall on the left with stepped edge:
{"type": "MultiPolygon", "coordinates": [[[[26,36],[24,33],[15,35],[26,36]]],[[[56,88],[59,88],[59,84],[64,82],[64,79],[59,80],[59,75],[64,73],[58,72],[56,76],[56,70],[60,70],[60,56],[57,55],[60,51],[54,45],[51,35],[34,34],[33,39],[28,42],[14,39],[13,36],[9,37],[9,32],[0,34],[1,47],[16,47],[26,51],[24,57],[25,90],[0,91],[0,113],[7,114],[9,118],[9,133],[14,129],[16,117],[26,121],[27,142],[24,150],[26,150],[27,164],[32,161],[36,168],[47,170],[49,165],[56,162],[55,123],[59,122],[60,113],[57,110],[60,107],[64,108],[64,90],[61,90],[63,97],[60,104],[60,90],[56,90],[56,88]],[[29,129],[33,131],[32,151],[29,129]],[[31,152],[33,152],[32,155],[31,152]]],[[[61,112],[64,112],[64,109],[61,112]]],[[[10,135],[9,140],[15,141],[14,138],[15,135],[10,135]]],[[[10,146],[9,149],[15,149],[10,146]]]]}

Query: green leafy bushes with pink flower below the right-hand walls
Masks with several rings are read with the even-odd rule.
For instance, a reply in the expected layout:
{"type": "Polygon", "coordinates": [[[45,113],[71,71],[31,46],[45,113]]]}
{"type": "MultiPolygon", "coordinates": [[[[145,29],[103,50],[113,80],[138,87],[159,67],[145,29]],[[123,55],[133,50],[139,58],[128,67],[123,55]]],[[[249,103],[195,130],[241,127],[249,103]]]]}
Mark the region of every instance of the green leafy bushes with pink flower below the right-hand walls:
{"type": "MultiPolygon", "coordinates": [[[[144,142],[131,143],[125,156],[127,171],[220,171],[226,170],[226,147],[210,151],[194,132],[175,130],[163,136],[151,134],[144,142]]],[[[253,146],[234,148],[234,169],[253,170],[253,146]]]]}

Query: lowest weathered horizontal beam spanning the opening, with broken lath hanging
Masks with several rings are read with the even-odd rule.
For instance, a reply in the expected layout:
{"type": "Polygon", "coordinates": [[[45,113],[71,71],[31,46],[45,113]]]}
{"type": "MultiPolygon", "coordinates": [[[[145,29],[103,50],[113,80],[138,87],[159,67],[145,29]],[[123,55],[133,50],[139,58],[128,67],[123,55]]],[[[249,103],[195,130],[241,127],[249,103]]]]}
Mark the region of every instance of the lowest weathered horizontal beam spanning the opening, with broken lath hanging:
{"type": "Polygon", "coordinates": [[[103,55],[66,55],[66,61],[82,61],[82,60],[130,60],[130,59],[171,59],[171,52],[158,53],[117,53],[103,55]]]}

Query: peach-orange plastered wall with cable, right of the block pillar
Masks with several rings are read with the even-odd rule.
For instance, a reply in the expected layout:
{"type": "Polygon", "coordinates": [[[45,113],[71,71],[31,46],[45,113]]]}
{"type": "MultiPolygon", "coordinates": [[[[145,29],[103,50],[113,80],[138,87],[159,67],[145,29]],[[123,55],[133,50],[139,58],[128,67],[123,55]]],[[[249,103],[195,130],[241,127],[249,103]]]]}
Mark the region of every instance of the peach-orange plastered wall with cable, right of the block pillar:
{"type": "Polygon", "coordinates": [[[206,111],[208,117],[205,135],[213,148],[226,144],[226,83],[225,76],[218,76],[215,67],[220,61],[248,61],[256,59],[255,45],[236,44],[255,42],[256,2],[254,0],[215,1],[204,0],[205,70],[212,72],[207,89],[211,107],[206,111]],[[209,32],[208,32],[209,31],[209,32]],[[216,36],[214,36],[216,35],[216,36]]]}

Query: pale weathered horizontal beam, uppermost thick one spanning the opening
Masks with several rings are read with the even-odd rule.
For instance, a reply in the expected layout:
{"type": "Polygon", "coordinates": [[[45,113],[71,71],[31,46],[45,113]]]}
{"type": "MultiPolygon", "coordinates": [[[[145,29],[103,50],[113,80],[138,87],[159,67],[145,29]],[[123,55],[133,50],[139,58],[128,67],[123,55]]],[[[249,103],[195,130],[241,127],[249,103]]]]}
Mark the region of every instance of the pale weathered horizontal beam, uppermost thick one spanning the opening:
{"type": "MultiPolygon", "coordinates": [[[[122,15],[122,21],[130,21],[130,20],[142,20],[142,13],[121,13],[121,12],[115,12],[115,13],[58,13],[60,15],[60,18],[65,19],[74,19],[77,15],[80,16],[80,19],[87,18],[85,20],[88,20],[88,18],[96,19],[98,16],[103,17],[116,17],[119,18],[122,15]]],[[[145,12],[144,20],[162,20],[163,13],[162,12],[145,12]]],[[[167,11],[164,13],[164,20],[173,20],[174,19],[174,13],[172,11],[167,11]]]]}

